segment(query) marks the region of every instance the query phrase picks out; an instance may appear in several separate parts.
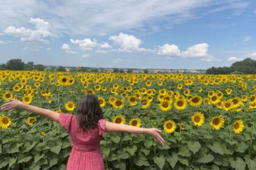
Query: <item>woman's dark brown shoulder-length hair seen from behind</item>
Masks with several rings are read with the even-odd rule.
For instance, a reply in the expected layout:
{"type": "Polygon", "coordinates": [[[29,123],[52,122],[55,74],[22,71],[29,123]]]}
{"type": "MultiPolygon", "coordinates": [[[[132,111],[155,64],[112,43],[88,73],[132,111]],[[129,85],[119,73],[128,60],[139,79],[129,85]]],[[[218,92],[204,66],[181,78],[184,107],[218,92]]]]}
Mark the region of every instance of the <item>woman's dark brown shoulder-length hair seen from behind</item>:
{"type": "Polygon", "coordinates": [[[103,112],[96,95],[87,94],[81,98],[77,107],[77,122],[83,130],[94,129],[103,118],[103,112]]]}

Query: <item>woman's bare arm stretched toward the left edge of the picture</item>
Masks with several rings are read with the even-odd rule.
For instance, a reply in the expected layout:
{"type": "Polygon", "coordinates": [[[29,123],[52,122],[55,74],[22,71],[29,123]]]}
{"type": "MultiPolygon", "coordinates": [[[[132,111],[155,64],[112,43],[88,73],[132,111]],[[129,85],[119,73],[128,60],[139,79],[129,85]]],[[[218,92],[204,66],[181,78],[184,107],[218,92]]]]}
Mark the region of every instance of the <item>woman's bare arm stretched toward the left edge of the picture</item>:
{"type": "Polygon", "coordinates": [[[54,112],[48,109],[43,109],[37,106],[32,106],[16,99],[9,99],[9,101],[10,101],[9,103],[5,103],[1,106],[1,110],[13,110],[16,108],[21,108],[21,109],[29,110],[30,112],[34,112],[35,114],[38,114],[41,116],[51,118],[51,120],[54,120],[57,123],[59,123],[60,114],[57,112],[54,112]]]}

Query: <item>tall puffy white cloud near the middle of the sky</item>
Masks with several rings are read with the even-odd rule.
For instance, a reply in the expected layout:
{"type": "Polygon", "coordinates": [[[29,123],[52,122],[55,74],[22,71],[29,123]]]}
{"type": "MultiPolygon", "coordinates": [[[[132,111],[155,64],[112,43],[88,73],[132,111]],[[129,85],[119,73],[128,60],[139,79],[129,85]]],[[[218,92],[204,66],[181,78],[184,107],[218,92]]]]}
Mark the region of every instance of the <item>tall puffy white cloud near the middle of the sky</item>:
{"type": "Polygon", "coordinates": [[[108,38],[113,41],[116,46],[121,47],[119,52],[151,52],[151,49],[140,48],[142,43],[141,39],[136,38],[133,35],[125,33],[119,33],[119,35],[110,36],[108,38]]]}

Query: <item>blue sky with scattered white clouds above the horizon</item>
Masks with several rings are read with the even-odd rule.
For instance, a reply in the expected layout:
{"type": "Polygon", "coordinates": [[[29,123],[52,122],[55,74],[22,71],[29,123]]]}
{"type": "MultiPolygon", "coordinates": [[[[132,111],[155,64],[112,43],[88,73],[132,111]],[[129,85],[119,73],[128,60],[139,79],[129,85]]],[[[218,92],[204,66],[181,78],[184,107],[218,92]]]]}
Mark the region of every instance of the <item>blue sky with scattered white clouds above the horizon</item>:
{"type": "Polygon", "coordinates": [[[208,69],[256,59],[256,2],[1,1],[0,63],[208,69]]]}

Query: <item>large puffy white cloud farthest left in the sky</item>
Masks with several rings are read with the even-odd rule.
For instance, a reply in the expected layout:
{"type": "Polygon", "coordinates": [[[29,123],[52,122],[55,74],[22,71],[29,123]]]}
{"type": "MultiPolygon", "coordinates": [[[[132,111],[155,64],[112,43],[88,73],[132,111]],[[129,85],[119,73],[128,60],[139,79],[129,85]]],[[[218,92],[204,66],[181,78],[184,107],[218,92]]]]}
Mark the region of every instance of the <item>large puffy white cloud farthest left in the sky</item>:
{"type": "Polygon", "coordinates": [[[45,38],[52,36],[52,33],[49,32],[49,29],[51,28],[49,22],[40,18],[30,18],[29,22],[30,24],[35,25],[35,30],[26,29],[25,27],[20,27],[20,29],[18,29],[10,25],[4,30],[4,33],[20,37],[20,41],[23,42],[47,43],[48,39],[45,38]]]}

